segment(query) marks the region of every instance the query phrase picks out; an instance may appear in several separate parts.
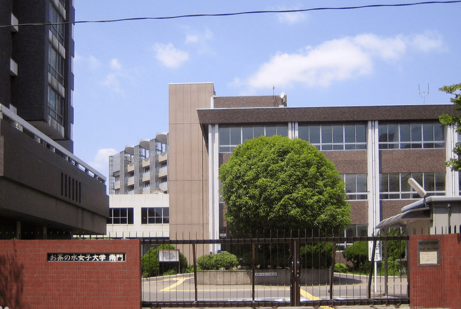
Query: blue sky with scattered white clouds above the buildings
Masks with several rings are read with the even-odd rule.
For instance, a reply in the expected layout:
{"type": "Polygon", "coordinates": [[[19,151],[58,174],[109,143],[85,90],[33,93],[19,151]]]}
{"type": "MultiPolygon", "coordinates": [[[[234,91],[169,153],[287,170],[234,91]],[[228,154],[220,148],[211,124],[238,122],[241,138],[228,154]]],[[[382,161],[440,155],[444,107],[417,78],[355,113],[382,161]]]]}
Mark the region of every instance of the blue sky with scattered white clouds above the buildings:
{"type": "MultiPolygon", "coordinates": [[[[74,5],[75,20],[84,21],[414,2],[76,0],[74,5]]],[[[169,83],[213,82],[218,97],[284,91],[289,107],[449,104],[450,96],[438,88],[461,82],[460,12],[461,3],[434,3],[77,23],[74,154],[107,177],[109,155],[168,132],[169,83]]]]}

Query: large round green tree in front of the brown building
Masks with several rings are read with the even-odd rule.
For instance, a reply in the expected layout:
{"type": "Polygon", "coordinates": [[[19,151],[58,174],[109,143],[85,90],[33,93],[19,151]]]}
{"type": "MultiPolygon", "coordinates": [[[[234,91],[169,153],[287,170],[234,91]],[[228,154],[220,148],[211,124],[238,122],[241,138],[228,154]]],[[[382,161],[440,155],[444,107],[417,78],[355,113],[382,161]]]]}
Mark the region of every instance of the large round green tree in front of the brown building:
{"type": "Polygon", "coordinates": [[[350,205],[335,165],[304,140],[279,135],[247,140],[221,165],[219,178],[234,235],[350,224],[350,205]]]}

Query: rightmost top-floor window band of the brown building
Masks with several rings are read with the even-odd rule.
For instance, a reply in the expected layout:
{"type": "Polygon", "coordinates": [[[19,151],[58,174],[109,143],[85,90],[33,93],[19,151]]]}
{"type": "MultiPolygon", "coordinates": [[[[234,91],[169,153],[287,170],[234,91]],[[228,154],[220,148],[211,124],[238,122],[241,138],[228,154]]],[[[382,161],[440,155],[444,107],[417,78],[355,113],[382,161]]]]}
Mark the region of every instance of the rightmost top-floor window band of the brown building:
{"type": "Polygon", "coordinates": [[[444,126],[439,122],[379,125],[379,149],[444,148],[444,126]]]}

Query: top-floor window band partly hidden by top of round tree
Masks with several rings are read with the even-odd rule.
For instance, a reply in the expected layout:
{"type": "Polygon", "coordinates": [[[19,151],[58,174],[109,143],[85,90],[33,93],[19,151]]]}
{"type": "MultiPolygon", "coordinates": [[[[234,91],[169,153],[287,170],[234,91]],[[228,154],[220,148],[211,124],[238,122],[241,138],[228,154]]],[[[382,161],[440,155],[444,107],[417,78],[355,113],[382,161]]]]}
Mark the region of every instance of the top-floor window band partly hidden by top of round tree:
{"type": "Polygon", "coordinates": [[[219,152],[232,152],[239,144],[258,136],[288,136],[288,125],[219,128],[219,152]]]}

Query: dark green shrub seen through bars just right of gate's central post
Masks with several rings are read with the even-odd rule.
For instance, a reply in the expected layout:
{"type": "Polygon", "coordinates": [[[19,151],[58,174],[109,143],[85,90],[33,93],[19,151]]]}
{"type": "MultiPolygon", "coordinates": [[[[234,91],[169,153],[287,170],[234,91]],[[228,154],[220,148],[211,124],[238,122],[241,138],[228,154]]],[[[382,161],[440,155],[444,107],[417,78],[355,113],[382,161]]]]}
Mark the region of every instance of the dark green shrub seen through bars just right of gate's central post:
{"type": "Polygon", "coordinates": [[[304,268],[328,268],[332,262],[333,245],[331,243],[306,244],[299,249],[304,268]]]}

